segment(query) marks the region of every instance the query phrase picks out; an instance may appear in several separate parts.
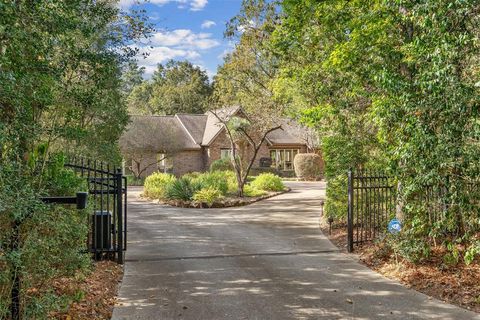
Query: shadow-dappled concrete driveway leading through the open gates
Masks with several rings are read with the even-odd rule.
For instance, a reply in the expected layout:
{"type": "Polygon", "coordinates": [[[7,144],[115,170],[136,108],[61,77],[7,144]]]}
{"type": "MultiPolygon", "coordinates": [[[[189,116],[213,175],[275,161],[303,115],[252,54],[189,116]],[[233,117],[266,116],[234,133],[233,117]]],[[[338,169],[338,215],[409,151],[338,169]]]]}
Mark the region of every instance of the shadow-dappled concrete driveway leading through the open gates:
{"type": "Polygon", "coordinates": [[[246,207],[182,209],[130,191],[113,319],[480,319],[342,254],[318,228],[323,183],[246,207]]]}

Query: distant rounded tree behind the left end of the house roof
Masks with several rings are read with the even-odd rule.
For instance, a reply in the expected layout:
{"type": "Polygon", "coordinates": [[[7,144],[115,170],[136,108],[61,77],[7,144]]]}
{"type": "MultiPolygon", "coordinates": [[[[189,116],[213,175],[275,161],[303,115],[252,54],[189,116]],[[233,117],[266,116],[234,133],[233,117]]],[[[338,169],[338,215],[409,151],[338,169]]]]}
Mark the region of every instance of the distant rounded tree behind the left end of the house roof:
{"type": "Polygon", "coordinates": [[[159,64],[151,80],[137,85],[128,97],[137,114],[203,113],[212,92],[204,70],[188,61],[159,64]]]}

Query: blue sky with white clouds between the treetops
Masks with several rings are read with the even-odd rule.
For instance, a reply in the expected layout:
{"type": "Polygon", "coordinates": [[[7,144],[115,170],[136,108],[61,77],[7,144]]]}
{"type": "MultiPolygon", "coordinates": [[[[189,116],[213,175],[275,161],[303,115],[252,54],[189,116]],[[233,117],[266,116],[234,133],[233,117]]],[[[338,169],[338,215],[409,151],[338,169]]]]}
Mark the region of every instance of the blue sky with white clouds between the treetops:
{"type": "Polygon", "coordinates": [[[207,71],[210,78],[222,63],[223,56],[233,48],[224,39],[225,23],[240,10],[241,0],[120,0],[124,10],[144,8],[156,31],[148,42],[137,44],[148,52],[138,64],[150,77],[157,63],[169,59],[189,60],[207,71]],[[150,48],[152,47],[152,48],[150,48]]]}

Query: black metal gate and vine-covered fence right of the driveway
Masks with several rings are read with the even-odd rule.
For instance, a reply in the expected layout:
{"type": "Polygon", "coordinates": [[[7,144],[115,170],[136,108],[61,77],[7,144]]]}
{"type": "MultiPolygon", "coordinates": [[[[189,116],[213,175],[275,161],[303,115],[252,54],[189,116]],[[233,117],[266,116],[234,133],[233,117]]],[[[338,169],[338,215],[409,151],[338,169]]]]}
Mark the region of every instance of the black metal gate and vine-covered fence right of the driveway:
{"type": "MultiPolygon", "coordinates": [[[[425,185],[408,199],[397,200],[397,188],[401,186],[384,173],[369,170],[350,170],[348,172],[348,215],[347,240],[348,251],[354,245],[374,240],[385,234],[388,223],[396,217],[397,206],[402,215],[408,202],[422,208],[417,214],[430,226],[442,226],[445,222],[453,227],[441,232],[464,234],[480,231],[480,181],[456,180],[456,190],[452,190],[450,177],[439,179],[435,185],[425,185]],[[452,197],[452,195],[454,195],[452,197]]],[[[408,216],[404,218],[408,219],[408,216]]]]}

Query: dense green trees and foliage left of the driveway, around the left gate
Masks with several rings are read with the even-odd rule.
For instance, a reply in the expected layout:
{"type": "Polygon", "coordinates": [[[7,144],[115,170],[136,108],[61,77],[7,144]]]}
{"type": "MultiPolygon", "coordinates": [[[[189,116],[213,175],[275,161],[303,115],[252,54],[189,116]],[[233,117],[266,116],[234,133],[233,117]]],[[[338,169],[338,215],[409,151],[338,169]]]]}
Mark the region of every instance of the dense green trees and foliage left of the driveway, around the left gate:
{"type": "Polygon", "coordinates": [[[55,177],[80,186],[47,160],[65,149],[119,159],[128,121],[120,69],[147,29],[116,1],[0,4],[0,318],[47,318],[58,305],[48,281],[86,265],[84,213],[38,198],[59,192],[55,177]]]}

